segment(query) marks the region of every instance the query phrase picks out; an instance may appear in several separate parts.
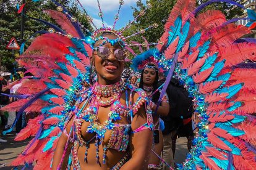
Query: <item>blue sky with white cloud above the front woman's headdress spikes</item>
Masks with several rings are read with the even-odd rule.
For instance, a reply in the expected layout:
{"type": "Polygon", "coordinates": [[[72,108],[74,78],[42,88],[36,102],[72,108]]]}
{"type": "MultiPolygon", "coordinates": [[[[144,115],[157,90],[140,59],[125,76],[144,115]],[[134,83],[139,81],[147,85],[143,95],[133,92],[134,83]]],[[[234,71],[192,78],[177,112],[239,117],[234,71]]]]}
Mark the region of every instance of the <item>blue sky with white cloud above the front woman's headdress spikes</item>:
{"type": "MultiPolygon", "coordinates": [[[[114,15],[117,14],[117,10],[119,7],[119,0],[99,0],[101,4],[101,10],[103,12],[103,20],[105,21],[105,26],[113,26],[114,23],[114,15]]],[[[145,0],[143,0],[145,1],[145,0]]],[[[93,18],[93,22],[95,25],[100,28],[101,18],[98,17],[98,3],[97,0],[80,0],[83,4],[83,7],[93,18]]],[[[122,28],[125,26],[129,20],[133,20],[132,9],[130,6],[136,6],[137,0],[124,0],[124,5],[121,7],[121,11],[119,12],[119,20],[116,22],[116,29],[122,28]]]]}

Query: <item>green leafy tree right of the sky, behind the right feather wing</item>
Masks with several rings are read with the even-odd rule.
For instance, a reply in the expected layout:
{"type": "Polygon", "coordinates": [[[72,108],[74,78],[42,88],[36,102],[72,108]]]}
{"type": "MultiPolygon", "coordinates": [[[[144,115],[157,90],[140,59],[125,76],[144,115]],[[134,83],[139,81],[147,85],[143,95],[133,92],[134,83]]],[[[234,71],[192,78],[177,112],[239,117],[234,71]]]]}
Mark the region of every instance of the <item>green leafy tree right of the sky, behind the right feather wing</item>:
{"type": "MultiPolygon", "coordinates": [[[[197,0],[197,6],[207,1],[208,0],[197,0]]],[[[173,9],[176,1],[147,0],[146,4],[148,2],[152,5],[151,9],[146,10],[146,14],[144,16],[139,17],[134,25],[124,31],[124,35],[128,36],[130,34],[138,32],[141,28],[147,28],[149,25],[157,23],[158,28],[151,28],[150,30],[145,31],[145,33],[140,35],[144,36],[148,42],[158,42],[158,39],[160,39],[161,35],[163,34],[164,24],[166,23],[166,20],[169,17],[169,13],[171,12],[171,9],[173,9]]],[[[136,7],[132,7],[134,17],[139,15],[140,10],[143,10],[147,7],[146,4],[143,4],[142,0],[139,0],[136,4],[136,7]]],[[[215,2],[213,4],[210,4],[205,9],[203,9],[202,12],[207,9],[221,10],[221,12],[223,12],[227,16],[227,19],[239,17],[243,14],[243,10],[241,8],[229,5],[225,2],[215,2]]],[[[127,39],[127,41],[137,41],[141,43],[144,40],[140,38],[140,36],[135,36],[127,39]]],[[[135,52],[139,52],[138,49],[135,47],[133,47],[132,49],[134,49],[135,52]]]]}

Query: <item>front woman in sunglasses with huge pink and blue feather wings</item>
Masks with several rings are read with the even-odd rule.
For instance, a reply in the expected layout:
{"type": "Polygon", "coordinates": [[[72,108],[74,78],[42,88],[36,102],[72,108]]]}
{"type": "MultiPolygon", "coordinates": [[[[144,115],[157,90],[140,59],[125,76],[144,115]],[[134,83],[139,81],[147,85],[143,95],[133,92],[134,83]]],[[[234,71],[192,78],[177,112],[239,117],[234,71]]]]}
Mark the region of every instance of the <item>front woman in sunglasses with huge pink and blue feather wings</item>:
{"type": "MultiPolygon", "coordinates": [[[[158,68],[164,68],[168,72],[160,99],[171,76],[175,76],[193,97],[195,111],[200,119],[198,134],[193,141],[194,147],[184,163],[178,165],[179,169],[256,167],[256,67],[255,63],[244,63],[245,60],[256,60],[256,44],[255,39],[241,38],[255,27],[255,12],[247,10],[251,22],[246,26],[236,26],[233,23],[241,18],[227,21],[218,10],[199,13],[211,2],[220,1],[212,0],[195,7],[194,0],[178,0],[164,26],[160,42],[144,43],[147,47],[147,51],[143,52],[145,58],[153,56],[160,63],[158,68]],[[149,49],[150,45],[155,47],[149,49]]],[[[244,9],[234,1],[223,1],[244,9]]],[[[86,37],[81,29],[88,32],[87,28],[80,25],[58,2],[53,2],[57,4],[58,11],[46,12],[61,28],[32,18],[50,28],[49,31],[37,32],[42,35],[35,38],[17,59],[19,65],[23,65],[33,76],[21,80],[22,86],[18,92],[23,95],[17,96],[20,100],[2,108],[19,110],[17,118],[23,111],[42,113],[31,119],[28,126],[15,138],[23,140],[35,136],[12,165],[24,164],[24,168],[31,168],[36,162],[33,169],[50,169],[54,155],[54,168],[61,168],[62,164],[59,162],[62,162],[73,169],[83,169],[86,166],[84,169],[125,169],[126,166],[132,166],[129,169],[143,169],[147,158],[142,154],[150,151],[150,129],[153,129],[148,99],[142,91],[130,89],[126,83],[120,87],[122,82],[119,82],[118,76],[111,75],[111,71],[117,69],[119,73],[122,70],[122,62],[117,57],[120,48],[126,48],[137,55],[126,40],[156,27],[157,24],[124,37],[122,31],[129,28],[137,17],[122,30],[116,31],[114,25],[119,18],[118,10],[113,28],[106,28],[98,1],[103,28],[97,29],[92,17],[88,17],[95,31],[90,33],[90,37],[86,37]],[[108,32],[111,35],[104,36],[103,33],[108,32]],[[99,81],[84,87],[83,84],[90,84],[90,57],[93,55],[99,81]],[[102,82],[105,83],[100,84],[102,82]],[[109,86],[106,86],[107,83],[109,86]],[[108,89],[114,84],[112,92],[103,92],[105,88],[101,87],[108,89]],[[137,129],[143,123],[144,126],[137,129]],[[129,129],[130,132],[127,132],[129,129]],[[145,136],[141,139],[144,142],[137,143],[136,136],[140,134],[145,136]],[[147,142],[145,138],[148,138],[147,142]],[[68,141],[66,144],[65,140],[68,141]],[[68,156],[70,146],[72,152],[68,156]],[[128,146],[130,152],[127,150],[128,146]],[[137,149],[140,153],[136,152],[137,149]],[[63,154],[54,154],[56,150],[63,154]]],[[[124,1],[119,2],[120,9],[124,1]]],[[[149,7],[150,4],[138,17],[144,15],[149,7]]],[[[158,100],[156,105],[160,102],[158,100]]]]}

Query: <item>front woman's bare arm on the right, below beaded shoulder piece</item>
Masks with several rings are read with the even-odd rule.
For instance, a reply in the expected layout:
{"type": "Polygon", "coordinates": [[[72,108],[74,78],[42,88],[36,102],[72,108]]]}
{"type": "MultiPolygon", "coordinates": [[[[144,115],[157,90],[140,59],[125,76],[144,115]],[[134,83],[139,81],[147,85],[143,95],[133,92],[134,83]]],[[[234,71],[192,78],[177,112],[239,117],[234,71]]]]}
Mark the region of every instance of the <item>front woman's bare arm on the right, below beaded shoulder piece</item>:
{"type": "MultiPolygon", "coordinates": [[[[132,120],[132,131],[135,131],[145,123],[147,123],[147,115],[145,113],[145,105],[142,105],[132,120]]],[[[150,129],[132,134],[129,141],[132,158],[122,166],[121,170],[147,169],[152,142],[153,132],[150,129]]]]}

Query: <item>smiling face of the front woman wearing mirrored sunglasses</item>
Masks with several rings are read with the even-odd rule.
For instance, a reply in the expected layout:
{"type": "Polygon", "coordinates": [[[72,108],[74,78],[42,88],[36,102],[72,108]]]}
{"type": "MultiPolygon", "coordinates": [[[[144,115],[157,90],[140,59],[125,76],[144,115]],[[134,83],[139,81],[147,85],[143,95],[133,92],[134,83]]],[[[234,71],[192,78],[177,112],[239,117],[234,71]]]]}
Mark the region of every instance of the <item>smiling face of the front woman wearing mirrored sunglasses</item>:
{"type": "MultiPolygon", "coordinates": [[[[108,34],[106,37],[116,39],[116,36],[112,34],[108,34]]],[[[103,40],[101,40],[100,44],[102,41],[103,40]]],[[[113,84],[120,81],[122,71],[124,70],[124,62],[119,62],[114,57],[114,49],[121,49],[121,46],[119,46],[118,43],[114,44],[114,46],[111,46],[110,43],[106,43],[103,47],[108,47],[111,54],[109,54],[107,59],[103,60],[97,55],[96,51],[93,51],[95,70],[98,74],[100,84],[113,84]]]]}

